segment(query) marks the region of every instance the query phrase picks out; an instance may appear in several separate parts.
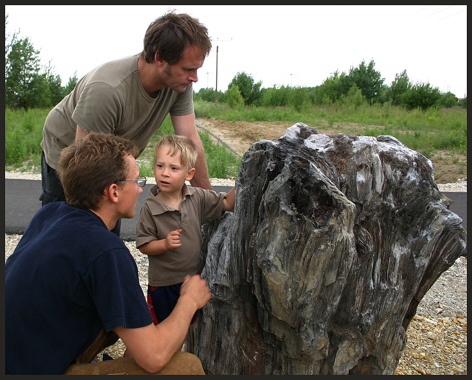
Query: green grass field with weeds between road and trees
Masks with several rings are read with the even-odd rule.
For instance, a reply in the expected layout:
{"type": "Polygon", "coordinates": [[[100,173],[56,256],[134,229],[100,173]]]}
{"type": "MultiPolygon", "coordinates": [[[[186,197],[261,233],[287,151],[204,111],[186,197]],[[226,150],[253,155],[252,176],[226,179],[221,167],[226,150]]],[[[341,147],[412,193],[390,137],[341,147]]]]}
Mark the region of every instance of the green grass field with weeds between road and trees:
{"type": "MultiPolygon", "coordinates": [[[[423,112],[392,106],[355,108],[330,105],[298,112],[284,107],[230,108],[226,104],[204,101],[195,101],[194,106],[195,115],[199,118],[290,125],[302,121],[310,126],[323,126],[354,136],[391,135],[434,163],[438,183],[467,177],[467,110],[463,108],[423,112]]],[[[5,170],[39,171],[42,129],[48,112],[49,109],[5,110],[5,170]]],[[[145,176],[152,176],[152,146],[163,132],[173,132],[169,117],[139,158],[145,176]]],[[[205,132],[199,131],[199,134],[210,177],[237,176],[240,158],[223,145],[213,143],[205,132]]]]}

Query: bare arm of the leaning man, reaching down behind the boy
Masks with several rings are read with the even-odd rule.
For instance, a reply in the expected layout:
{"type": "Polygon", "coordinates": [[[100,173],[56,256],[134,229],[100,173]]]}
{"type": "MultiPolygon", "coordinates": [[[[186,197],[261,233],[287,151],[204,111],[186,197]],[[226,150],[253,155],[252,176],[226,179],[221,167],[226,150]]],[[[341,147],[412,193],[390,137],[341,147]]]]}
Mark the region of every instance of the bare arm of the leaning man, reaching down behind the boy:
{"type": "Polygon", "coordinates": [[[196,131],[195,113],[189,113],[184,116],[170,116],[174,132],[176,135],[188,136],[196,145],[198,151],[198,158],[195,163],[195,175],[190,183],[195,187],[202,187],[212,189],[210,180],[208,178],[208,167],[205,160],[205,151],[203,150],[202,141],[196,131]]]}

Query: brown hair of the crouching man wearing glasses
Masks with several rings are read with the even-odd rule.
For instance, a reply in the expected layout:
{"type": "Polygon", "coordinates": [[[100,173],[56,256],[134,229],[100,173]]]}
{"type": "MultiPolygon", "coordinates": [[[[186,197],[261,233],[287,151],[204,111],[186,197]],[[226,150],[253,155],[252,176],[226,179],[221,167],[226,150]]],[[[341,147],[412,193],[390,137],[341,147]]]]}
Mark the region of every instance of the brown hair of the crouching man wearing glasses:
{"type": "Polygon", "coordinates": [[[57,170],[67,203],[97,210],[105,189],[127,178],[125,157],[138,154],[132,141],[114,135],[90,132],[74,141],[61,151],[57,170]]]}

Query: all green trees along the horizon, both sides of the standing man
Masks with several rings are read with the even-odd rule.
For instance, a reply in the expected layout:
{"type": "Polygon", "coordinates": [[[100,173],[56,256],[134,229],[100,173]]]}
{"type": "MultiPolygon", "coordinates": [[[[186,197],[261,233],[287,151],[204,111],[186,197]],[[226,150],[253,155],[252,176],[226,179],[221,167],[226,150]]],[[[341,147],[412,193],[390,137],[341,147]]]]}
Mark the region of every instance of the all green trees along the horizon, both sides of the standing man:
{"type": "MultiPolygon", "coordinates": [[[[28,109],[53,107],[70,93],[77,83],[74,74],[66,86],[60,75],[54,73],[50,62],[40,63],[40,50],[36,50],[28,37],[7,31],[5,16],[5,108],[28,109]]],[[[353,107],[372,104],[390,104],[406,109],[426,110],[430,107],[467,108],[467,98],[460,102],[451,93],[442,93],[429,83],[414,84],[406,70],[397,73],[390,85],[375,69],[375,62],[351,67],[349,72],[334,72],[316,87],[280,86],[262,88],[247,73],[238,72],[228,84],[226,92],[201,88],[194,93],[195,100],[223,102],[230,107],[266,106],[291,107],[297,111],[313,105],[340,104],[353,107]]]]}

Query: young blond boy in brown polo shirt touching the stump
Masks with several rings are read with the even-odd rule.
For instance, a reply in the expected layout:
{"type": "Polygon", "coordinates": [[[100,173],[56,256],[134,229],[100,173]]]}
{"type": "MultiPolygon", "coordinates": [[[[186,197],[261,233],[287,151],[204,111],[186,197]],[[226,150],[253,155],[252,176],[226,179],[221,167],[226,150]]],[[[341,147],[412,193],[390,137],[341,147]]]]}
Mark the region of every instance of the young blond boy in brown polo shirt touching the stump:
{"type": "Polygon", "coordinates": [[[136,248],[149,258],[147,299],[155,325],[172,312],[185,278],[198,272],[203,223],[234,209],[234,187],[217,194],[186,185],[196,156],[184,136],[164,135],[154,148],[156,185],[141,208],[136,248]]]}

